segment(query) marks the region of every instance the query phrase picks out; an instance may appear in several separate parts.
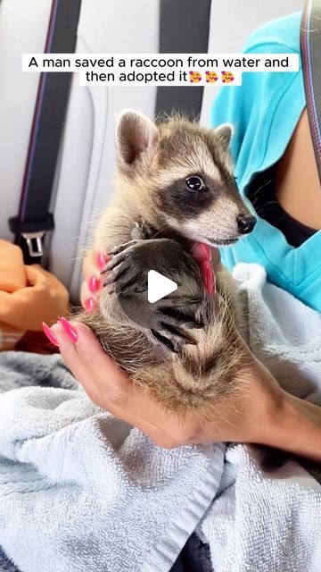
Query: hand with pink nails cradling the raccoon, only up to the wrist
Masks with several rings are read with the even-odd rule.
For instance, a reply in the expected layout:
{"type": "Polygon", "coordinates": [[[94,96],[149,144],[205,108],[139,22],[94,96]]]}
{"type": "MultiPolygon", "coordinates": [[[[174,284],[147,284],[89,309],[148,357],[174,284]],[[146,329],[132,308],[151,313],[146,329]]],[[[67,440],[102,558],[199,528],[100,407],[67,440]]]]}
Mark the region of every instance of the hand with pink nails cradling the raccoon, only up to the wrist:
{"type": "MultiPolygon", "coordinates": [[[[195,250],[195,257],[208,253],[195,250]]],[[[100,272],[107,258],[86,258],[81,300],[93,311],[100,289],[100,272]],[[91,299],[88,303],[88,299],[91,299]]],[[[188,414],[184,419],[166,412],[161,404],[130,381],[103,351],[95,334],[84,324],[62,319],[51,332],[67,366],[81,383],[88,397],[114,416],[135,425],[162,447],[200,442],[265,442],[268,417],[279,408],[283,392],[274,378],[244,345],[244,366],[240,372],[242,391],[235,400],[222,405],[215,419],[188,414]],[[69,332],[69,334],[67,333],[69,332]],[[71,333],[70,333],[71,332],[71,333]]]]}

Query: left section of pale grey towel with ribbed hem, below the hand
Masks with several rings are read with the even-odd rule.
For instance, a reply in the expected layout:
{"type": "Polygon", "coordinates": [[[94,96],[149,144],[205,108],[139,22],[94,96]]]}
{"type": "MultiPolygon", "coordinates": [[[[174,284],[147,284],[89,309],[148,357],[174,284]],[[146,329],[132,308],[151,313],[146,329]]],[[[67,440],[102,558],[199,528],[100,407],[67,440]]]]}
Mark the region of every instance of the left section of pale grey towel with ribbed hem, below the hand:
{"type": "MultiPolygon", "coordinates": [[[[21,359],[12,353],[12,367],[21,359]]],[[[169,570],[217,492],[223,458],[220,444],[161,450],[82,391],[8,391],[0,544],[21,572],[169,570]]]]}

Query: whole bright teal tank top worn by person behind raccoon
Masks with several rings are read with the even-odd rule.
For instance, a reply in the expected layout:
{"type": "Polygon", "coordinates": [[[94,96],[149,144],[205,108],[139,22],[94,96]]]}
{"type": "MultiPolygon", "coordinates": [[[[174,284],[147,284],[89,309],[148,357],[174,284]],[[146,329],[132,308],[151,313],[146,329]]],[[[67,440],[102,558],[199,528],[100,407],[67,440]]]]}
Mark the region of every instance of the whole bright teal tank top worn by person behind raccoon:
{"type": "MultiPolygon", "coordinates": [[[[300,17],[295,13],[268,22],[251,35],[244,52],[300,55],[300,17]]],[[[223,87],[215,99],[211,124],[235,126],[231,142],[235,177],[252,212],[246,196],[249,183],[284,155],[305,105],[301,67],[297,72],[244,72],[242,86],[223,87]]],[[[321,231],[294,248],[282,231],[256,216],[258,223],[250,235],[233,247],[221,248],[222,263],[229,270],[238,262],[260,264],[269,282],[321,312],[321,231]]]]}

